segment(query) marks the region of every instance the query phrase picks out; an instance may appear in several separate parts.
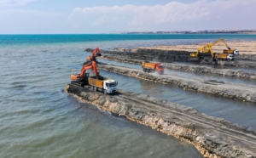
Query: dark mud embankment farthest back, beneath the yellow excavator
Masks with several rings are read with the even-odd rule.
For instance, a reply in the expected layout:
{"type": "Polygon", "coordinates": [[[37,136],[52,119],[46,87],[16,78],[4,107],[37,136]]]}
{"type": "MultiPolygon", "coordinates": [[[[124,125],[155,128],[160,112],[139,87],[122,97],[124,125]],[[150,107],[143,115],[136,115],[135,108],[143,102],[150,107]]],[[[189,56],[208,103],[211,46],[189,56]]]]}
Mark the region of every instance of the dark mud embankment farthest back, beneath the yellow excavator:
{"type": "MultiPolygon", "coordinates": [[[[90,48],[85,49],[84,51],[90,51],[90,48]]],[[[129,59],[142,59],[142,60],[155,60],[159,62],[172,63],[172,61],[178,62],[191,62],[196,64],[204,65],[216,65],[212,61],[211,54],[201,54],[202,59],[190,57],[191,52],[186,51],[163,51],[155,49],[138,49],[137,52],[116,52],[116,51],[105,51],[102,50],[102,54],[109,54],[111,56],[120,56],[122,58],[129,59]]],[[[241,55],[243,56],[243,55],[241,55]]],[[[256,55],[254,55],[256,58],[256,55]]],[[[235,56],[236,58],[237,56],[235,56]]],[[[244,56],[245,57],[245,56],[244,56]]],[[[241,57],[239,57],[241,58],[241,57]]],[[[246,57],[245,57],[246,58],[246,57]]],[[[218,60],[218,65],[230,65],[236,67],[256,67],[256,62],[253,60],[247,59],[235,59],[234,61],[222,61],[218,60]]],[[[250,57],[249,59],[252,59],[250,57]]]]}

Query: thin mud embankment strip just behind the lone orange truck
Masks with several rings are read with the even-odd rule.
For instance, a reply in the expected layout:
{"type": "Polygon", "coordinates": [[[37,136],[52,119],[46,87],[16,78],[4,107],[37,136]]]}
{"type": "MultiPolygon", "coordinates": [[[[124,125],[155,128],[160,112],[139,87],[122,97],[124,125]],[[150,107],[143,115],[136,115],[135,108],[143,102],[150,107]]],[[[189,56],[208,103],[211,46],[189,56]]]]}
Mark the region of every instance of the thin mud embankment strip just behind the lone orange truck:
{"type": "MultiPolygon", "coordinates": [[[[111,57],[106,55],[103,55],[101,58],[125,62],[125,63],[137,64],[137,65],[141,65],[143,62],[143,60],[139,60],[139,59],[124,59],[124,58],[117,58],[117,57],[111,57]]],[[[240,70],[232,70],[232,69],[219,69],[219,68],[200,66],[200,65],[183,65],[183,64],[174,64],[174,63],[163,63],[163,65],[165,65],[165,67],[168,69],[178,70],[178,71],[214,74],[218,76],[232,76],[232,77],[256,80],[256,73],[252,71],[248,72],[248,71],[240,71],[240,70]]]]}

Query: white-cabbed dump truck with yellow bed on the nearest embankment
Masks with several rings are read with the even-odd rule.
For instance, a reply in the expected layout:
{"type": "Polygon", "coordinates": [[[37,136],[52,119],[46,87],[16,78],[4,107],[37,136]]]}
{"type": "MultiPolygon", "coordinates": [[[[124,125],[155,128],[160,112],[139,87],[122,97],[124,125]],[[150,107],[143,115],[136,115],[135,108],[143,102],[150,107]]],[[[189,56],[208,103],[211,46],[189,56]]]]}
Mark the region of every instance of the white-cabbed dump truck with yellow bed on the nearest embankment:
{"type": "Polygon", "coordinates": [[[118,82],[103,76],[89,76],[88,84],[94,91],[98,90],[106,94],[117,92],[118,82]]]}

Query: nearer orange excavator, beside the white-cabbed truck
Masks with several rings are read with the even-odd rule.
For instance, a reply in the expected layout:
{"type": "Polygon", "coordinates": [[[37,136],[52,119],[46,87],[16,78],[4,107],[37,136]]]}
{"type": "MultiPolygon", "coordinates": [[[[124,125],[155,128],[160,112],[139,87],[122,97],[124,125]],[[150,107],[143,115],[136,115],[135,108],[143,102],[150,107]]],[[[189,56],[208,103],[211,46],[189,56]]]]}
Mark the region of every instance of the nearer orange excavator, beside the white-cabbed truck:
{"type": "Polygon", "coordinates": [[[70,78],[74,80],[72,83],[82,87],[84,86],[84,84],[88,84],[89,73],[86,73],[86,71],[90,69],[93,69],[96,77],[100,77],[100,73],[97,70],[96,61],[91,61],[90,63],[83,66],[79,74],[72,74],[70,76],[70,78]]]}

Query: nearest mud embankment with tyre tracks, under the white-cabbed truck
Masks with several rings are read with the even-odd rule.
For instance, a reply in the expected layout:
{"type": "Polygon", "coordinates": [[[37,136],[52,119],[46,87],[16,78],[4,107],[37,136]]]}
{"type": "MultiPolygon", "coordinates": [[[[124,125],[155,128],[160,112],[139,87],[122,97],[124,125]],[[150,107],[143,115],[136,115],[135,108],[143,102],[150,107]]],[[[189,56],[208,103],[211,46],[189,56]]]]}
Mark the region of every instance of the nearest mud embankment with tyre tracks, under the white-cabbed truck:
{"type": "Polygon", "coordinates": [[[186,140],[205,157],[256,157],[255,132],[224,119],[201,114],[193,108],[125,91],[109,96],[68,85],[66,92],[102,110],[186,140]]]}

